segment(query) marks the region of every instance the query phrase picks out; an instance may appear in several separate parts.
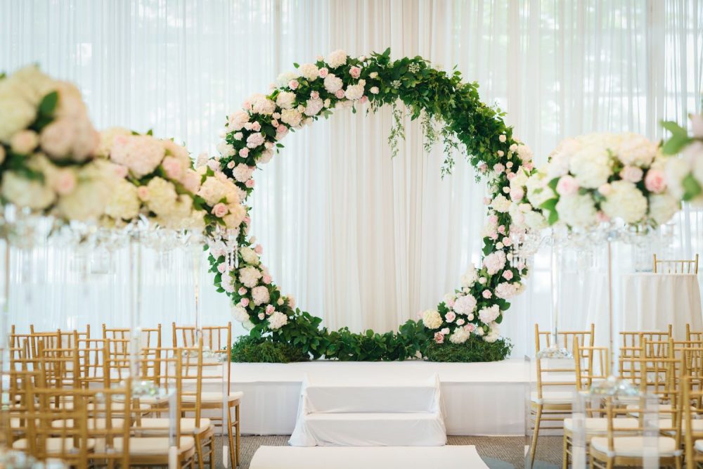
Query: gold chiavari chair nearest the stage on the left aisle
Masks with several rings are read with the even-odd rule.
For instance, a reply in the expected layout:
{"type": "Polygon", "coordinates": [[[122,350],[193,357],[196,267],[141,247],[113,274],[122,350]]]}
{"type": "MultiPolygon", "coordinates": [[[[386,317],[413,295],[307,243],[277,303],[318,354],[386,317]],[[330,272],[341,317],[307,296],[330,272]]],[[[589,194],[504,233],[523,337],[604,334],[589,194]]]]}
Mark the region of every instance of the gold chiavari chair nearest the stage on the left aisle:
{"type": "MultiPolygon", "coordinates": [[[[197,346],[195,341],[197,340],[197,330],[195,326],[173,326],[173,343],[174,347],[194,347],[197,346]]],[[[230,460],[231,466],[235,468],[240,461],[240,418],[239,418],[239,406],[240,401],[243,396],[243,392],[233,392],[232,391],[232,380],[231,380],[231,367],[226,366],[226,376],[221,376],[218,374],[217,369],[221,369],[220,361],[224,361],[229,364],[231,357],[231,347],[232,347],[232,323],[227,323],[227,326],[204,326],[202,330],[202,345],[201,347],[206,347],[209,349],[211,356],[209,359],[203,361],[203,371],[206,370],[204,377],[208,380],[222,380],[226,379],[226,402],[228,411],[226,413],[226,428],[227,437],[230,448],[230,460]],[[217,356],[218,359],[214,359],[217,356]],[[212,371],[214,370],[214,371],[212,371]],[[232,410],[234,410],[234,418],[232,418],[232,410]]],[[[186,368],[187,371],[187,368],[186,368]]],[[[221,391],[205,391],[201,393],[201,405],[203,410],[213,411],[217,410],[217,416],[209,416],[210,420],[213,422],[220,422],[222,427],[225,427],[225,423],[222,421],[223,415],[222,406],[225,401],[223,392],[221,391]]],[[[185,399],[185,404],[193,404],[195,397],[191,394],[185,393],[183,395],[185,399]]],[[[224,430],[223,430],[224,435],[224,430]]]]}

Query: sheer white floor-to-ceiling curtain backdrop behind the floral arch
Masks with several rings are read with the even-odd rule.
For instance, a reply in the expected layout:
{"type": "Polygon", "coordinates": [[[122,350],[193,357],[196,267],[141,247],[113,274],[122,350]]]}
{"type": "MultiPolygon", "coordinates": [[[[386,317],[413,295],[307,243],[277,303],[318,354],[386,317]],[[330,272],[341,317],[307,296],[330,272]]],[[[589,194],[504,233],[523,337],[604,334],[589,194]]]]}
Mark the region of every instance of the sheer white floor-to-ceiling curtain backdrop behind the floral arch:
{"type": "MultiPolygon", "coordinates": [[[[538,162],[565,136],[611,130],[658,139],[659,120],[683,122],[701,110],[700,0],[0,0],[0,70],[40,63],[79,84],[98,127],[153,129],[195,155],[214,151],[225,115],[293,62],[387,46],[394,57],[456,64],[481,84],[484,101],[508,111],[538,162]]],[[[388,112],[340,113],[290,137],[256,176],[253,231],[265,262],[285,292],[332,328],[396,328],[437,304],[479,258],[484,188],[472,169],[458,165],[441,179],[441,148],[423,155],[414,125],[391,159],[389,126],[388,112]]],[[[673,230],[673,254],[703,248],[699,212],[686,207],[673,230]]],[[[127,323],[126,257],[112,255],[108,269],[100,255],[16,255],[15,322],[127,323]]],[[[188,321],[186,257],[146,259],[148,323],[188,321]]],[[[621,269],[631,268],[628,259],[619,257],[621,269]]],[[[565,289],[582,291],[591,274],[602,279],[602,262],[585,274],[571,270],[565,289]]],[[[202,282],[205,322],[226,320],[227,298],[209,288],[207,273],[202,282]]],[[[545,251],[505,320],[516,354],[529,347],[526,326],[547,326],[549,304],[545,251]]],[[[586,323],[593,307],[570,301],[565,326],[586,323]]]]}

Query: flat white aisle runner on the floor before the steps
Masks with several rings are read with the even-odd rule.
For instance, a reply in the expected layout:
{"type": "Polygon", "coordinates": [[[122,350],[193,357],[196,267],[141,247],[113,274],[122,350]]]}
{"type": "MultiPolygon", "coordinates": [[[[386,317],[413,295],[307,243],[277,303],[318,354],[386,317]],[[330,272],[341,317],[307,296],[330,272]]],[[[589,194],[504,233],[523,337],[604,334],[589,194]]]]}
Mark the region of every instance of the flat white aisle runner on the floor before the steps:
{"type": "Polygon", "coordinates": [[[250,469],[487,469],[475,446],[260,446],[250,469]]]}

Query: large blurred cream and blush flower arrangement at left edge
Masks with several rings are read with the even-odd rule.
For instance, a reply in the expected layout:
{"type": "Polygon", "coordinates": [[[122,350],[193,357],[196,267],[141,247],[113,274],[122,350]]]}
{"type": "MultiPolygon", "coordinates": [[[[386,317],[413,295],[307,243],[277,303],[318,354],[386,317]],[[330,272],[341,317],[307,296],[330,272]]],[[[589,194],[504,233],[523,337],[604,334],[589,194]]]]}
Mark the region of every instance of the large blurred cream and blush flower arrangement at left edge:
{"type": "Polygon", "coordinates": [[[59,221],[103,214],[114,168],[94,157],[100,134],[78,89],[37,67],[0,77],[0,195],[20,212],[59,221]]]}

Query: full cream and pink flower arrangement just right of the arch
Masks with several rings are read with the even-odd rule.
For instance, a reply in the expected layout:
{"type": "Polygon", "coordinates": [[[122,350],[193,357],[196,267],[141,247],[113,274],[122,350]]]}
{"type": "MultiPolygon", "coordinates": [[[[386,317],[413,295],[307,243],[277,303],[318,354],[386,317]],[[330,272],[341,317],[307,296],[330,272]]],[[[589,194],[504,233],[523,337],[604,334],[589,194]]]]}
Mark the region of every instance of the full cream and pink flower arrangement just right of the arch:
{"type": "Polygon", "coordinates": [[[681,207],[666,184],[666,160],[656,143],[638,134],[587,134],[562,141],[546,167],[513,190],[524,191],[550,225],[587,234],[621,221],[647,231],[681,207]]]}

